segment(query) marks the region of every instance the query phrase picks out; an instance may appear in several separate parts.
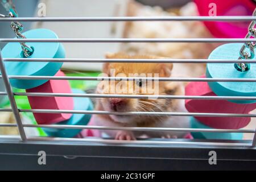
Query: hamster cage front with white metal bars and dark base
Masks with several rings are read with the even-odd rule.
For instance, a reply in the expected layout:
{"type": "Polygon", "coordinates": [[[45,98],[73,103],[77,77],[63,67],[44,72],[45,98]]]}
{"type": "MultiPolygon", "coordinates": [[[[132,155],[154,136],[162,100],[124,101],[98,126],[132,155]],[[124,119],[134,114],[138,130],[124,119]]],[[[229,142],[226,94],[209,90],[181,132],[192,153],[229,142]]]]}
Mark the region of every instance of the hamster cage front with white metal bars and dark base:
{"type": "MultiPolygon", "coordinates": [[[[186,22],[186,21],[251,21],[256,20],[255,16],[87,16],[87,17],[27,17],[10,18],[1,17],[0,22],[186,22]]],[[[35,26],[35,25],[34,25],[35,26]]],[[[47,25],[49,26],[49,25],[47,25]]],[[[122,29],[122,28],[121,28],[122,29]]],[[[76,30],[79,31],[79,30],[76,30]]],[[[65,30],[63,30],[65,34],[65,30]]],[[[72,33],[74,34],[74,33],[72,33]]],[[[9,39],[1,38],[1,43],[9,42],[44,42],[44,43],[102,43],[105,46],[115,43],[245,43],[255,39],[243,38],[57,38],[57,39],[9,39]]],[[[88,48],[88,47],[87,47],[88,48]]],[[[114,49],[114,47],[113,47],[114,49]]],[[[89,51],[89,50],[88,50],[89,51]]],[[[0,51],[1,53],[1,51],[0,51]]],[[[1,55],[1,54],[0,54],[1,55]]],[[[5,58],[0,56],[1,79],[0,97],[10,102],[10,107],[2,106],[1,112],[13,113],[15,123],[0,123],[0,127],[16,128],[19,135],[0,136],[0,169],[103,169],[103,170],[170,170],[170,169],[252,169],[256,167],[256,132],[253,129],[195,129],[195,128],[157,128],[157,127],[105,127],[105,126],[72,126],[72,125],[44,125],[26,122],[21,119],[22,113],[68,113],[68,114],[118,114],[96,110],[58,110],[58,109],[24,109],[17,104],[20,97],[74,97],[74,98],[98,98],[98,97],[127,97],[143,98],[142,95],[122,95],[95,93],[33,93],[16,90],[11,86],[13,79],[20,80],[72,80],[72,81],[97,81],[99,77],[92,76],[14,76],[6,72],[5,63],[26,62],[26,58],[5,58]],[[129,131],[188,131],[191,133],[244,133],[251,134],[252,138],[231,140],[231,139],[162,139],[142,138],[138,140],[114,140],[113,138],[57,138],[39,135],[41,130],[35,128],[52,129],[97,129],[97,130],[129,130],[129,131]],[[29,133],[29,134],[28,134],[29,133]],[[32,134],[31,134],[32,133],[32,134]],[[36,134],[35,134],[36,133],[36,134]],[[47,154],[47,165],[39,165],[39,152],[47,154]],[[209,165],[211,152],[217,154],[217,165],[209,165]]],[[[63,59],[30,59],[33,62],[54,62],[75,64],[94,63],[209,63],[208,59],[105,59],[105,58],[63,58],[63,59]]],[[[233,63],[234,60],[210,60],[211,63],[233,63]]],[[[241,61],[241,60],[235,60],[241,61]]],[[[254,64],[255,60],[248,60],[246,63],[254,64]]],[[[94,66],[94,65],[93,65],[94,66]]],[[[75,68],[75,67],[73,67],[75,68]]],[[[111,80],[112,78],[109,77],[111,80]]],[[[134,78],[131,78],[134,79],[134,78]]],[[[195,77],[170,77],[158,78],[159,81],[221,81],[221,82],[255,82],[256,78],[250,80],[242,78],[195,78],[195,77]]],[[[169,96],[174,100],[256,100],[256,97],[238,96],[169,96]]],[[[158,99],[166,99],[166,96],[158,96],[158,99]]],[[[0,103],[1,103],[0,102],[0,103]]],[[[120,113],[119,113],[120,114],[120,113]]],[[[250,117],[255,118],[254,113],[178,113],[178,112],[136,112],[134,114],[158,114],[170,115],[173,117],[250,117]]]]}

